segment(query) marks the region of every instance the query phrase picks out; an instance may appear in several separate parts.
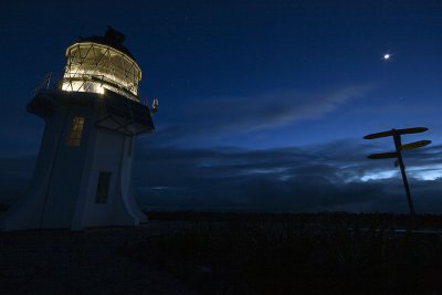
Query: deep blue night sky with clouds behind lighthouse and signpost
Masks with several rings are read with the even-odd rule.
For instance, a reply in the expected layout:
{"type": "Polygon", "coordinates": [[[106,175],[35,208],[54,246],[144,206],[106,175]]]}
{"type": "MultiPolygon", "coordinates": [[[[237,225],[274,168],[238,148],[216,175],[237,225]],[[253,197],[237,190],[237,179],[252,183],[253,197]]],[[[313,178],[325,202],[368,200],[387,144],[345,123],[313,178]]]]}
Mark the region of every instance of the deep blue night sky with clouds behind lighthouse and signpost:
{"type": "Polygon", "coordinates": [[[32,177],[44,123],[25,112],[65,49],[106,25],[159,99],[138,138],[134,191],[148,210],[408,212],[391,138],[417,212],[442,213],[442,2],[8,1],[0,9],[0,194],[32,177]],[[382,60],[389,53],[389,60],[382,60]]]}

